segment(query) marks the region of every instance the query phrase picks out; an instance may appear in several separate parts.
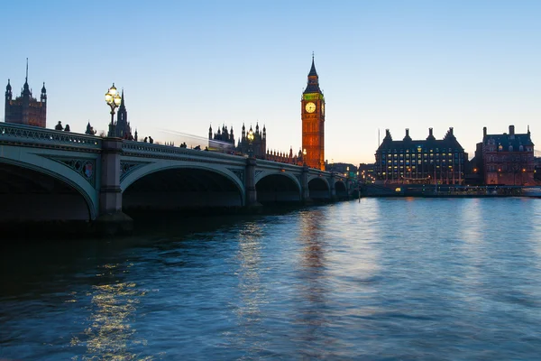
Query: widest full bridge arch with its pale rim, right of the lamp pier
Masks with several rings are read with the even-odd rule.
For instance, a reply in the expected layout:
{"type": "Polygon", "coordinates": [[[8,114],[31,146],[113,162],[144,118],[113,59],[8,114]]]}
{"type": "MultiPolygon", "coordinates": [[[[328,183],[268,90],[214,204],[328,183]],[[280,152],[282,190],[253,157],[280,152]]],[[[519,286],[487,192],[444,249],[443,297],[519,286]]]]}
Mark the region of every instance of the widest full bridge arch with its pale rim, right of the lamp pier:
{"type": "MultiPolygon", "coordinates": [[[[237,171],[243,175],[243,169],[237,171]]],[[[152,162],[127,174],[120,188],[125,210],[186,210],[245,204],[244,185],[233,171],[199,162],[152,162]]]]}

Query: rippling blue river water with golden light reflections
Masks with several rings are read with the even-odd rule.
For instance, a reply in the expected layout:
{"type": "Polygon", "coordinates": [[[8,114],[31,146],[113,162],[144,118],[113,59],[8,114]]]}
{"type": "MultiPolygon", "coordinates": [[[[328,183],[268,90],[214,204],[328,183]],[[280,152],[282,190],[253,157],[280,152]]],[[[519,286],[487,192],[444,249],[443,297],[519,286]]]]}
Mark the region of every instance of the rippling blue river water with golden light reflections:
{"type": "Polygon", "coordinates": [[[0,358],[538,360],[540,231],[541,199],[362,199],[3,240],[0,358]]]}

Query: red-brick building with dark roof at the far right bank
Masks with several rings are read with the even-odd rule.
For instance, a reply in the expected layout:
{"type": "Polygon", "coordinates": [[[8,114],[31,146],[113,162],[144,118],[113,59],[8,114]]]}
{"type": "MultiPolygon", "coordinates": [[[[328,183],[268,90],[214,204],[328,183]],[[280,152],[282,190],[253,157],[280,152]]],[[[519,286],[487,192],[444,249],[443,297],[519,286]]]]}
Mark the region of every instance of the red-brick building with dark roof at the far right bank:
{"type": "Polygon", "coordinates": [[[516,134],[509,125],[509,134],[487,134],[482,129],[482,143],[478,143],[475,159],[486,185],[524,186],[535,184],[534,143],[529,128],[526,134],[516,134]]]}

